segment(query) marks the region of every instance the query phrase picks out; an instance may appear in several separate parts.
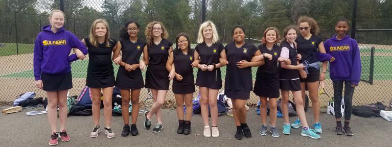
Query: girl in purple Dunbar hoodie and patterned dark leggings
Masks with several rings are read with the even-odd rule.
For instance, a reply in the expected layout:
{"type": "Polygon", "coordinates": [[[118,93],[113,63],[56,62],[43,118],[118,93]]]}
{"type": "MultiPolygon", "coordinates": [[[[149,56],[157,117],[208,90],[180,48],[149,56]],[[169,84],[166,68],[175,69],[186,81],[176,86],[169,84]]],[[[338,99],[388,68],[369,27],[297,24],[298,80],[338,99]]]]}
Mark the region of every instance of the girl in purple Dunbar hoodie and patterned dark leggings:
{"type": "Polygon", "coordinates": [[[336,35],[328,39],[324,44],[327,53],[331,54],[336,61],[330,63],[330,76],[334,89],[334,109],[336,118],[335,134],[353,136],[350,128],[351,106],[353,93],[358,86],[361,76],[361,59],[358,43],[351,39],[349,32],[349,21],[339,19],[336,23],[336,35]],[[340,103],[342,99],[344,83],[344,127],[341,125],[340,103]]]}

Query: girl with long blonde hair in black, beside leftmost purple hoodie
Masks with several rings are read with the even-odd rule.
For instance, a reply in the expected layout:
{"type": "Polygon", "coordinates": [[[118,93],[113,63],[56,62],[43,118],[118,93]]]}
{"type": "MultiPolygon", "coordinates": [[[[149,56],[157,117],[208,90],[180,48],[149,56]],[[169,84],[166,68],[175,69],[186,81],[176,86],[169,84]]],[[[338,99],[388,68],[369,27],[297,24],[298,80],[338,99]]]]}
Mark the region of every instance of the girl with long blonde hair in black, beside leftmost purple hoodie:
{"type": "Polygon", "coordinates": [[[101,112],[101,89],[103,93],[105,134],[107,138],[115,137],[110,128],[111,98],[114,86],[114,71],[111,53],[117,46],[117,41],[109,37],[109,26],[103,19],[96,19],[91,25],[90,35],[82,40],[87,46],[89,59],[87,67],[86,86],[90,87],[93,97],[94,129],[90,137],[98,137],[100,132],[99,117],[101,112]]]}

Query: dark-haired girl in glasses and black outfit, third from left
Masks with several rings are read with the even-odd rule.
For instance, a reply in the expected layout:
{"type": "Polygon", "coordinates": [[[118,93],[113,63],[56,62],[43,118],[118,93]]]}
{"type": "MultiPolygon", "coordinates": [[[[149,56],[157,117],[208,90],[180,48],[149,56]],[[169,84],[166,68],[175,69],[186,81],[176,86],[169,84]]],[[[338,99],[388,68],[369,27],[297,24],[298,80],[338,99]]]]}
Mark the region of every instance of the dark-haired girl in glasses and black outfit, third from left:
{"type": "MultiPolygon", "coordinates": [[[[139,113],[139,96],[140,89],[144,87],[142,77],[142,70],[139,68],[139,59],[142,55],[143,48],[146,43],[137,38],[139,33],[139,23],[135,20],[128,20],[121,30],[121,39],[117,43],[118,50],[114,52],[113,57],[119,56],[122,53],[122,59],[119,62],[119,72],[117,73],[116,86],[120,88],[121,99],[123,106],[121,106],[121,113],[124,120],[124,128],[121,136],[128,136],[129,131],[132,136],[139,134],[136,128],[137,114],[139,113]],[[129,99],[132,103],[132,123],[129,127],[129,99]]],[[[146,54],[144,54],[144,59],[146,54]]]]}

